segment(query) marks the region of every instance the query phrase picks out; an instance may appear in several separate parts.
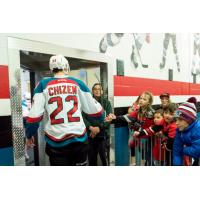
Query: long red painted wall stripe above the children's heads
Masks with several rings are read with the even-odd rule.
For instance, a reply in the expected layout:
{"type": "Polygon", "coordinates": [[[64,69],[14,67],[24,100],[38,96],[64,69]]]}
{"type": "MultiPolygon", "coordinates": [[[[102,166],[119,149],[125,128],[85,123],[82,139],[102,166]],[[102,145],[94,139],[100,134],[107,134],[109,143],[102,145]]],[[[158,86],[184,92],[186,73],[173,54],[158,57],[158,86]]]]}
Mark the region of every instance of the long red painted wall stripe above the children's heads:
{"type": "Polygon", "coordinates": [[[200,95],[200,84],[148,78],[114,76],[114,96],[138,96],[143,91],[153,95],[200,95]]]}

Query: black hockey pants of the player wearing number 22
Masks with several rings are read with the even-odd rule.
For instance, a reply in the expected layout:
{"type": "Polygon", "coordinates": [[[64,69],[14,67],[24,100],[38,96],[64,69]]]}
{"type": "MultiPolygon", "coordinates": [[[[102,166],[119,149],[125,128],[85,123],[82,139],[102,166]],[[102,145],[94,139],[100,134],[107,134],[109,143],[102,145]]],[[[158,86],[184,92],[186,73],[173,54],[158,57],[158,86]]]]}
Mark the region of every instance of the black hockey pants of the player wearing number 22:
{"type": "Polygon", "coordinates": [[[85,166],[87,165],[88,143],[75,142],[55,148],[46,144],[46,154],[51,166],[85,166]]]}

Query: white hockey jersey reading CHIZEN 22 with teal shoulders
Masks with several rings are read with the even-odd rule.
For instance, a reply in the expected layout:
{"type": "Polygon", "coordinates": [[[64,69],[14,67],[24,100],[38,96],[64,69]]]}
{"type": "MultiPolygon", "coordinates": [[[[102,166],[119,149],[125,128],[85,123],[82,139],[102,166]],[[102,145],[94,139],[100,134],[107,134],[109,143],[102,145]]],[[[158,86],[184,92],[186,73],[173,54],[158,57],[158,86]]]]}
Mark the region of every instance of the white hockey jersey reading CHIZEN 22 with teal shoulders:
{"type": "Polygon", "coordinates": [[[82,110],[91,117],[104,120],[102,106],[82,81],[66,76],[43,79],[34,91],[26,135],[32,137],[44,117],[45,138],[49,145],[83,142],[87,134],[82,110]]]}

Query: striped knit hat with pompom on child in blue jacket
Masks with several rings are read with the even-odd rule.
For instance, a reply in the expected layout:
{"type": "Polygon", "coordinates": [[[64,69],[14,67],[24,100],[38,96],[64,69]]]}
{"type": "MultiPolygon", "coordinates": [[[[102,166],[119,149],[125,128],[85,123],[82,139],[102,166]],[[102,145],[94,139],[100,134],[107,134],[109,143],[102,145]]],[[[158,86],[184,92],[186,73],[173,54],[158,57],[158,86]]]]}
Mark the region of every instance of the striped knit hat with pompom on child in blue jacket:
{"type": "Polygon", "coordinates": [[[197,118],[197,109],[194,103],[182,103],[175,112],[175,116],[191,124],[197,118]]]}

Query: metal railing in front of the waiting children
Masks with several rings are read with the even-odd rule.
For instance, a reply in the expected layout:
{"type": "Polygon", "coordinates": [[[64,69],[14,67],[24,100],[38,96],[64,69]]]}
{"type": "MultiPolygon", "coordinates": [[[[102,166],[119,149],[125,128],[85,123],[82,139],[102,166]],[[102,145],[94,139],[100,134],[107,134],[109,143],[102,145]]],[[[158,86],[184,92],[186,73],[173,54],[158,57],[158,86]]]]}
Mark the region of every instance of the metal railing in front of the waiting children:
{"type": "MultiPolygon", "coordinates": [[[[131,151],[130,165],[135,166],[173,166],[173,148],[156,136],[135,138],[131,151]]],[[[184,156],[184,166],[198,166],[200,159],[184,156]]]]}

